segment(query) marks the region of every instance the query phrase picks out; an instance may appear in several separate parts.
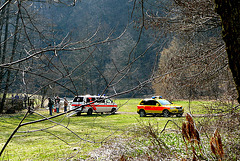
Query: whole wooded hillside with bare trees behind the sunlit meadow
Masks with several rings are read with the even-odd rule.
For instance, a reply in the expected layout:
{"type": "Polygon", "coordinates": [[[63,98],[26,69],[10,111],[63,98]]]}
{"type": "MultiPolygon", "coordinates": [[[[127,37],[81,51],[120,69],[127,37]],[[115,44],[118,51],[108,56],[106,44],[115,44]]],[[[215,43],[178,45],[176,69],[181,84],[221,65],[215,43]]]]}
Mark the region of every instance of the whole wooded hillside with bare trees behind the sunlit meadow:
{"type": "Polygon", "coordinates": [[[143,2],[9,3],[1,12],[3,98],[157,94],[235,100],[213,2],[143,2]],[[14,61],[19,63],[4,67],[14,61]]]}

